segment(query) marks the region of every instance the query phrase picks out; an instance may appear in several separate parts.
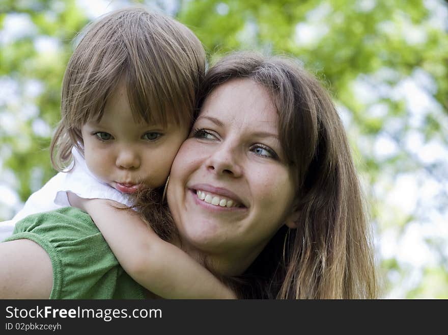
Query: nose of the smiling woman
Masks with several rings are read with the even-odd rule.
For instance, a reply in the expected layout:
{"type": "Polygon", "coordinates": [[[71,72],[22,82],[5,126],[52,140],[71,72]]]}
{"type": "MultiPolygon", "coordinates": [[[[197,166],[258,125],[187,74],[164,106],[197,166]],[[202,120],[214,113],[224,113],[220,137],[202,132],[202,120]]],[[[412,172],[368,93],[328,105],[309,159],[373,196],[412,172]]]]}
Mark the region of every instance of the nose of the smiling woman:
{"type": "Polygon", "coordinates": [[[217,175],[239,177],[242,167],[239,163],[238,152],[230,145],[221,145],[207,159],[207,169],[217,175]]]}

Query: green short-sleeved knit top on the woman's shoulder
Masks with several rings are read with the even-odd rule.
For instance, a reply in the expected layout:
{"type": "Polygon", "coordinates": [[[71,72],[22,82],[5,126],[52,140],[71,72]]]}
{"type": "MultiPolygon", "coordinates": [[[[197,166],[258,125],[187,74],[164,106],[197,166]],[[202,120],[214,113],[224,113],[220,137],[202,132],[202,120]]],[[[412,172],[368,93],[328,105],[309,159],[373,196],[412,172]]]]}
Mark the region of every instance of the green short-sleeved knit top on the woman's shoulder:
{"type": "Polygon", "coordinates": [[[48,253],[50,299],[144,299],[144,289],[120,266],[91,217],[72,207],[30,215],[5,241],[28,239],[48,253]]]}

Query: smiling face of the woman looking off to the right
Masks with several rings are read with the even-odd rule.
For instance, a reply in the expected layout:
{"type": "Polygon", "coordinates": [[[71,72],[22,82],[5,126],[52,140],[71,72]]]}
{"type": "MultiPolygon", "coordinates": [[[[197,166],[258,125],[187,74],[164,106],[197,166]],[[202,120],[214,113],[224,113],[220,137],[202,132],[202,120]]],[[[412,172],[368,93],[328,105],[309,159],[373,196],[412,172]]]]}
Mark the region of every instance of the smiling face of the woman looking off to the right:
{"type": "Polygon", "coordinates": [[[277,118],[262,85],[231,80],[205,100],[173,163],[168,202],[182,246],[222,274],[243,272],[291,214],[294,171],[277,118]]]}

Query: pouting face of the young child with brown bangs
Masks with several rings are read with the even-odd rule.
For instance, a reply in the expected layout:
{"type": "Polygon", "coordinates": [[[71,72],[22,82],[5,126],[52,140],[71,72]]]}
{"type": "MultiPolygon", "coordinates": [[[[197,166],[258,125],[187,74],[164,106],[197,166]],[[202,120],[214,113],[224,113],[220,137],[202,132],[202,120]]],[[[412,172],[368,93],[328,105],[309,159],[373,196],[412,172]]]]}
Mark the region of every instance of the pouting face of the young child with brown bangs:
{"type": "Polygon", "coordinates": [[[136,122],[126,88],[119,85],[107,99],[101,121],[81,127],[84,157],[98,179],[120,192],[156,188],[169,175],[188,131],[188,125],[136,122]]]}

